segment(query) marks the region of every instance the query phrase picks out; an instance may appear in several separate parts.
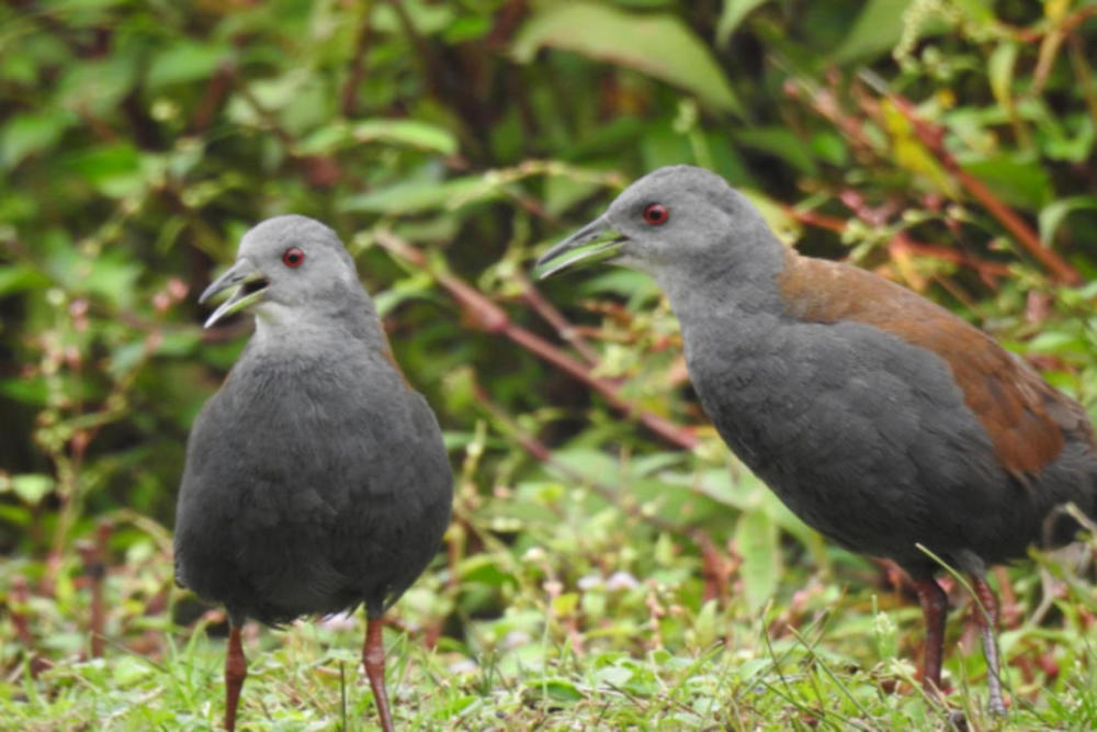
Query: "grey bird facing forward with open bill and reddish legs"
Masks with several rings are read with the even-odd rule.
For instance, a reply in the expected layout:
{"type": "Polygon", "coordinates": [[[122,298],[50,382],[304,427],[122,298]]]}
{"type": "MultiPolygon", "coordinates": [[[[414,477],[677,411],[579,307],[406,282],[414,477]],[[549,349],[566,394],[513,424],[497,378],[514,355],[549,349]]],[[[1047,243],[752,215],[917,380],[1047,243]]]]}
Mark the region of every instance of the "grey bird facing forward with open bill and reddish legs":
{"type": "Polygon", "coordinates": [[[426,398],[405,380],[338,235],[298,215],[240,239],[199,299],[205,322],[255,316],[255,334],[205,403],[186,444],[174,529],[176,581],[225,606],[225,728],[236,727],[248,618],[367,618],[362,661],[382,728],[385,610],[437,553],[453,475],[426,398]]]}

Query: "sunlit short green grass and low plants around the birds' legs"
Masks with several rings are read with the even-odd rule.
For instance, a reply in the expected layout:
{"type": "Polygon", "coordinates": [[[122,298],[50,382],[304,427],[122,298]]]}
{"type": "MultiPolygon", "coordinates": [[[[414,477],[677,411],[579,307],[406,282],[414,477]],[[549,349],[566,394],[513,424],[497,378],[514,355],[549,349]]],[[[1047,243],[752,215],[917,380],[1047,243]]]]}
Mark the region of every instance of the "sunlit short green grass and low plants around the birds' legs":
{"type": "MultiPolygon", "coordinates": [[[[744,583],[757,579],[743,571],[744,544],[716,541],[727,584],[705,603],[689,540],[586,491],[533,487],[490,499],[463,491],[450,560],[440,555],[391,612],[387,678],[400,729],[949,729],[948,712],[914,683],[917,605],[872,564],[829,547],[817,564],[779,534],[787,565],[772,597],[751,608],[744,583]]],[[[169,558],[155,549],[162,545],[162,534],[133,542],[112,566],[103,658],[81,660],[88,590],[73,582],[75,565],[54,597],[35,594],[16,608],[32,619],[34,652],[52,662],[36,678],[5,616],[0,728],[218,727],[223,617],[172,622],[193,598],[169,589],[169,558]],[[157,597],[170,601],[157,609],[157,597]]],[[[970,729],[1097,727],[1097,594],[1064,560],[1038,559],[1009,571],[1017,600],[1000,633],[1005,722],[985,712],[970,605],[953,588],[949,702],[970,729]]],[[[4,572],[36,566],[9,562],[4,572]]],[[[284,630],[249,626],[240,729],[376,729],[359,667],[363,630],[361,613],[284,630]]]]}

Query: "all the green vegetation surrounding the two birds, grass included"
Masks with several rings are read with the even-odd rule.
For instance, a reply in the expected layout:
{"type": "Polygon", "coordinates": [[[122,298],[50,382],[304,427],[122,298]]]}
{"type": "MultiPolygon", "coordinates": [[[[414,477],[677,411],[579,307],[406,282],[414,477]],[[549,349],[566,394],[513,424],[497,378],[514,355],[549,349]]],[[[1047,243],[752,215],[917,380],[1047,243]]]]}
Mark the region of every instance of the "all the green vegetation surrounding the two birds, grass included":
{"type": "MultiPolygon", "coordinates": [[[[0,728],[219,718],[224,618],[173,588],[170,527],[189,425],[250,323],[203,331],[195,296],[290,212],[344,237],[459,466],[448,551],[392,613],[402,727],[945,725],[912,683],[916,605],[727,453],[653,283],[603,269],[542,293],[528,269],[633,178],[703,165],[801,251],[938,300],[1093,412],[1095,16],[4,4],[0,728]]],[[[1093,729],[1093,570],[1038,559],[998,574],[1013,723],[1093,729]]],[[[987,727],[952,597],[953,699],[987,727]]],[[[359,623],[252,635],[246,728],[372,723],[359,623]]]]}

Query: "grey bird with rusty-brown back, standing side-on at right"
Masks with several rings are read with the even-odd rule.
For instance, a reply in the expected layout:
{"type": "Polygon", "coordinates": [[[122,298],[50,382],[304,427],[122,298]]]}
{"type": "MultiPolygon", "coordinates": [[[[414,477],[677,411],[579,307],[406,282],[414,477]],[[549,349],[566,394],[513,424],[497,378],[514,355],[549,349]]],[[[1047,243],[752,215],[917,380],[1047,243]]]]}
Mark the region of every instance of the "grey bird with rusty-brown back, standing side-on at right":
{"type": "Polygon", "coordinates": [[[654,278],[701,406],[805,523],[909,575],[921,682],[941,698],[943,562],[965,573],[1005,714],[986,567],[1068,543],[1097,513],[1085,408],[945,307],[873,272],[801,256],[721,176],[656,169],[536,262],[544,279],[611,261],[654,278]]]}

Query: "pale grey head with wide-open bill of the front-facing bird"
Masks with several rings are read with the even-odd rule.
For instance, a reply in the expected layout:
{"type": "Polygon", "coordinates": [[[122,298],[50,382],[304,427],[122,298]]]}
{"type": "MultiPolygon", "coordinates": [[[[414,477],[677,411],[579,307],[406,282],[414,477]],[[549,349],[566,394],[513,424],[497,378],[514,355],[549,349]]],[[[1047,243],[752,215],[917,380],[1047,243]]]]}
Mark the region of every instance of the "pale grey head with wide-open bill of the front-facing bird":
{"type": "Polygon", "coordinates": [[[354,262],[339,237],[305,216],[268,218],[244,235],[236,261],[202,296],[204,303],[231,290],[205,322],[210,327],[239,311],[270,320],[290,320],[303,308],[323,308],[341,293],[361,290],[354,262]]]}

